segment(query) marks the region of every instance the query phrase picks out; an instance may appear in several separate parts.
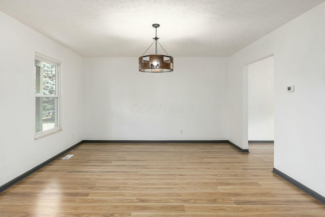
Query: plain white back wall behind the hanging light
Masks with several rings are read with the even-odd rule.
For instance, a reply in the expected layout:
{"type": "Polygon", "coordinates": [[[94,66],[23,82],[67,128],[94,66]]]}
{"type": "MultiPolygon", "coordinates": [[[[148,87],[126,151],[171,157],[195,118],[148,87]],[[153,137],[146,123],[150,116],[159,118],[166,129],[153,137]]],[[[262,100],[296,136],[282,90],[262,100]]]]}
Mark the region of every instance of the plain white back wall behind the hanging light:
{"type": "Polygon", "coordinates": [[[226,140],[226,58],[174,61],[153,74],[138,57],[85,58],[84,139],[226,140]]]}

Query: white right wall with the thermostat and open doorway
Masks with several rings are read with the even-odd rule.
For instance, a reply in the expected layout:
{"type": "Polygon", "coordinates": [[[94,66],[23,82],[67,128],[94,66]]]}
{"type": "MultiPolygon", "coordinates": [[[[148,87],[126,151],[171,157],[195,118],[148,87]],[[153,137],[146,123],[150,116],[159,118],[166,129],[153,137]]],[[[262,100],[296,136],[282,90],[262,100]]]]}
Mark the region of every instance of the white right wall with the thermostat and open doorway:
{"type": "Polygon", "coordinates": [[[229,139],[247,147],[247,67],[274,54],[274,167],[325,196],[325,3],[229,57],[229,139]],[[287,92],[295,85],[295,92],[287,92]]]}

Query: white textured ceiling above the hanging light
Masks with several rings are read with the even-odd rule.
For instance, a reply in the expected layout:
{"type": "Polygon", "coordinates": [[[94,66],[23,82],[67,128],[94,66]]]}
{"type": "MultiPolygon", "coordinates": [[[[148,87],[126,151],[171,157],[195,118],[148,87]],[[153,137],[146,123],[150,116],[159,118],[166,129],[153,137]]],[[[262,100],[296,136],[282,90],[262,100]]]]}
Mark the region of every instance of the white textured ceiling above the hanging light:
{"type": "Polygon", "coordinates": [[[152,23],[169,55],[229,56],[324,1],[0,0],[0,10],[82,56],[141,56],[152,23]]]}

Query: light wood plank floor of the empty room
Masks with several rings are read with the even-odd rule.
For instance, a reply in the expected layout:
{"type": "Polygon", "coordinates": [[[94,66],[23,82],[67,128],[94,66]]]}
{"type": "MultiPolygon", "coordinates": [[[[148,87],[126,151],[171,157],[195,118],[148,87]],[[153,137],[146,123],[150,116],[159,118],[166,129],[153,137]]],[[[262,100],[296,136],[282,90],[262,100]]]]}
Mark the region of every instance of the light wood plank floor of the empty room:
{"type": "Polygon", "coordinates": [[[249,150],[84,143],[0,194],[0,216],[325,216],[271,172],[273,145],[249,150]]]}

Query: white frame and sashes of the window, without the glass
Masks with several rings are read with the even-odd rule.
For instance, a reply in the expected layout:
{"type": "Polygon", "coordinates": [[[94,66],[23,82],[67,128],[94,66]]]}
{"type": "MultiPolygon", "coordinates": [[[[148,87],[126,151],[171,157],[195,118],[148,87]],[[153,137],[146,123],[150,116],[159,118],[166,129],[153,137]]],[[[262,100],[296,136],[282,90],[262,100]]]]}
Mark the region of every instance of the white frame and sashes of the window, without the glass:
{"type": "MultiPolygon", "coordinates": [[[[52,64],[56,66],[56,71],[55,71],[55,90],[56,90],[56,95],[41,95],[41,94],[35,94],[35,110],[36,111],[36,98],[37,97],[52,97],[52,98],[57,98],[57,127],[48,129],[48,130],[44,130],[41,132],[36,132],[36,116],[34,118],[34,130],[35,130],[35,139],[39,139],[48,135],[51,135],[53,133],[57,133],[62,131],[61,129],[61,61],[53,59],[51,57],[45,56],[43,54],[37,53],[35,52],[35,60],[39,60],[42,61],[44,63],[47,64],[52,64]]],[[[36,113],[34,112],[34,114],[36,115],[36,113]]]]}

